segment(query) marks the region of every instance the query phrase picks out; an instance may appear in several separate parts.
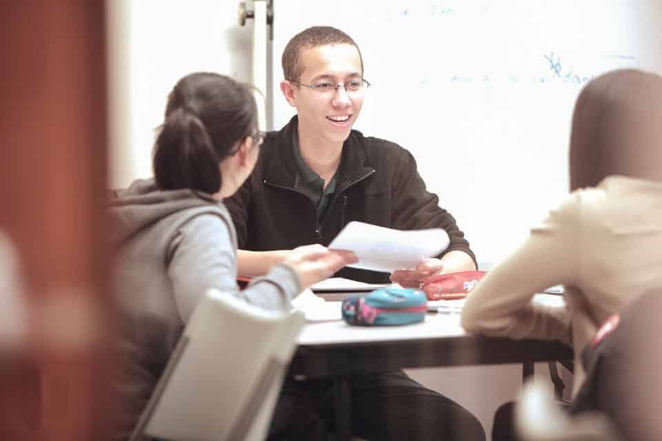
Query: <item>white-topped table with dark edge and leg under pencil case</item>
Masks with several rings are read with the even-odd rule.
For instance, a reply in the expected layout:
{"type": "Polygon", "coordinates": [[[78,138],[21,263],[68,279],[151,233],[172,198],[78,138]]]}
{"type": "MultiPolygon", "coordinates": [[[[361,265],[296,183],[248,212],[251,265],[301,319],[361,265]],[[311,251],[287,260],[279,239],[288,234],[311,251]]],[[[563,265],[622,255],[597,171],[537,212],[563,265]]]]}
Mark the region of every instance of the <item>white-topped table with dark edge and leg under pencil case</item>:
{"type": "Polygon", "coordinates": [[[559,342],[488,338],[466,333],[459,314],[428,313],[425,321],[401,327],[354,327],[341,320],[311,322],[298,339],[288,375],[297,380],[332,378],[338,440],[350,440],[352,373],[412,367],[449,367],[572,360],[572,348],[559,342]]]}

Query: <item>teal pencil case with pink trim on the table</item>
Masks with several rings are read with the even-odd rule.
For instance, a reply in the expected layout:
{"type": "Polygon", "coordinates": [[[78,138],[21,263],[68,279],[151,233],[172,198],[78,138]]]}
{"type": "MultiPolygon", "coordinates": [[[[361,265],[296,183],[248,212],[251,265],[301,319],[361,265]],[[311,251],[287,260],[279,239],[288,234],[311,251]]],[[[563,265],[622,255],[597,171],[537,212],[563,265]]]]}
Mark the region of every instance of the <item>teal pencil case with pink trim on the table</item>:
{"type": "Polygon", "coordinates": [[[428,311],[423,291],[385,288],[343,300],[343,320],[355,326],[392,326],[422,322],[428,311]]]}

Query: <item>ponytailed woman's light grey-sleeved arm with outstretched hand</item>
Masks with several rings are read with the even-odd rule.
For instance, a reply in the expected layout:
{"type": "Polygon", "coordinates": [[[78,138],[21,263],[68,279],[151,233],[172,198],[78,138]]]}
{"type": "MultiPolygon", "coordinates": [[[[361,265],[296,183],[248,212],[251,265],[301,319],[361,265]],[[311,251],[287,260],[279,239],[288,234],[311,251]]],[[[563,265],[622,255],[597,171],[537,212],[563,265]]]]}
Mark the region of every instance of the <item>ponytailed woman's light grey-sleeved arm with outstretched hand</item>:
{"type": "Polygon", "coordinates": [[[331,251],[322,245],[297,247],[283,263],[274,265],[265,276],[254,278],[240,291],[228,224],[220,216],[203,214],[181,227],[166,261],[174,300],[186,322],[210,288],[264,309],[289,309],[290,300],[304,288],[332,276],[357,258],[351,252],[331,251]]]}

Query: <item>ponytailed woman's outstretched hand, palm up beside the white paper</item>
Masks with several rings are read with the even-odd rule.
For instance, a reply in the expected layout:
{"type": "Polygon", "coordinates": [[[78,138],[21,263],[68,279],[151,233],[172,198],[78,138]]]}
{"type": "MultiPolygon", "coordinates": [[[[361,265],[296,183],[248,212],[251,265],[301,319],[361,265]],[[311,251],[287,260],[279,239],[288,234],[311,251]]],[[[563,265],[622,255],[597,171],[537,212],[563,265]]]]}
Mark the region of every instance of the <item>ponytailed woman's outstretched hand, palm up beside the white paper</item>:
{"type": "Polygon", "coordinates": [[[304,245],[292,249],[283,264],[294,269],[299,276],[301,289],[320,282],[350,263],[357,262],[357,256],[341,249],[330,250],[322,245],[304,245]]]}

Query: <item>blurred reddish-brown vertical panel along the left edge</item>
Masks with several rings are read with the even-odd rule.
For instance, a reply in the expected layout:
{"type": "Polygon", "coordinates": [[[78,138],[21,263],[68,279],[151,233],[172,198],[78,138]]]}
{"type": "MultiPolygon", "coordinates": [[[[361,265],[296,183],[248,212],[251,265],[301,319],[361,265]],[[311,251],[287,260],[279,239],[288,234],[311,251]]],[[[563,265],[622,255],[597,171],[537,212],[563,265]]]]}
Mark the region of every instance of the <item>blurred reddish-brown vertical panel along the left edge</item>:
{"type": "Polygon", "coordinates": [[[103,440],[112,412],[101,0],[0,2],[1,440],[103,440]],[[11,247],[11,245],[10,245],[11,247]]]}

